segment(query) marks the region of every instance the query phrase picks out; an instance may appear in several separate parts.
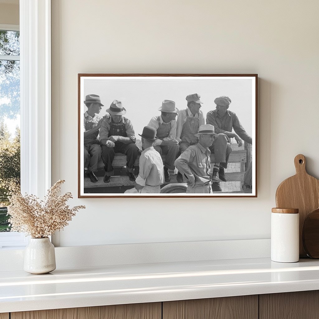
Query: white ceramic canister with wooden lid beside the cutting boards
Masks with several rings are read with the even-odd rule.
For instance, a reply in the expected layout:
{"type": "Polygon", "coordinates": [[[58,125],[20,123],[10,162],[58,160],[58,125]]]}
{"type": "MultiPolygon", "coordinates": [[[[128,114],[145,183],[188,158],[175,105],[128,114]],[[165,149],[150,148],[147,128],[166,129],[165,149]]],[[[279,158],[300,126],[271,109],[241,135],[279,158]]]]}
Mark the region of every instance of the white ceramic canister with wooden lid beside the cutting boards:
{"type": "Polygon", "coordinates": [[[299,209],[271,209],[271,260],[279,263],[299,261],[299,209]]]}

